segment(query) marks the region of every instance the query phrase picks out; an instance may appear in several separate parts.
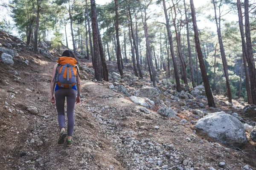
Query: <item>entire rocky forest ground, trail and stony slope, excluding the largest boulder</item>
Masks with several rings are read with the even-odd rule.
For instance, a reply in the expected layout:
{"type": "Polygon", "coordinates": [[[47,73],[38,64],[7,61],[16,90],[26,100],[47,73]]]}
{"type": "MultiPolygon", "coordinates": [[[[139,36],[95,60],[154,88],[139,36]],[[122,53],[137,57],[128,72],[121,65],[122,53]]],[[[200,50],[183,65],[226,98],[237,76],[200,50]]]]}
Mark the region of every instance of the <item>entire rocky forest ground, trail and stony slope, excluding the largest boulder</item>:
{"type": "MultiPolygon", "coordinates": [[[[3,46],[10,42],[7,38],[15,45],[22,43],[0,34],[3,46]]],[[[233,100],[230,105],[226,98],[215,97],[217,108],[208,108],[205,97],[190,96],[194,92],[188,87],[183,87],[184,93],[175,93],[173,84],[158,71],[157,90],[147,94],[154,105],[137,105],[131,96],[145,99],[145,91],[151,88],[146,71],[145,79],[136,79],[126,65],[129,76],[119,77],[113,73],[117,71],[114,62],[108,62],[111,81],[99,83],[93,80],[90,61],[79,61],[82,100],[75,108],[74,144],[57,144],[57,113],[49,102],[56,57],[35,55],[29,48],[17,51],[12,67],[0,60],[0,169],[256,169],[256,145],[249,132],[247,144],[233,148],[194,127],[198,119],[216,111],[236,113],[241,122],[253,125],[254,117],[243,115],[244,102],[233,100]],[[28,64],[23,62],[26,59],[28,64]],[[174,116],[162,116],[161,107],[171,107],[174,116]]]]}

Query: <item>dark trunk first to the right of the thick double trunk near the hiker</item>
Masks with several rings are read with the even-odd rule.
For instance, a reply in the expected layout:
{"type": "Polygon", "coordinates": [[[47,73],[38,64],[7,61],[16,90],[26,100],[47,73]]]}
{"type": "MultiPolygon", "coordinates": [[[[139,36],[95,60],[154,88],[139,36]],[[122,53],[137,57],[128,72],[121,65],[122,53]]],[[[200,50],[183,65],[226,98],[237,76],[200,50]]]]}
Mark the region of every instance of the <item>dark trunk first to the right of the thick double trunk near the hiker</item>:
{"type": "Polygon", "coordinates": [[[117,0],[115,0],[115,11],[116,11],[116,42],[117,42],[117,49],[116,49],[116,59],[117,59],[117,66],[120,75],[122,76],[124,73],[122,71],[122,66],[120,62],[120,55],[121,55],[121,48],[119,42],[119,20],[118,20],[118,13],[117,13],[117,0]]]}

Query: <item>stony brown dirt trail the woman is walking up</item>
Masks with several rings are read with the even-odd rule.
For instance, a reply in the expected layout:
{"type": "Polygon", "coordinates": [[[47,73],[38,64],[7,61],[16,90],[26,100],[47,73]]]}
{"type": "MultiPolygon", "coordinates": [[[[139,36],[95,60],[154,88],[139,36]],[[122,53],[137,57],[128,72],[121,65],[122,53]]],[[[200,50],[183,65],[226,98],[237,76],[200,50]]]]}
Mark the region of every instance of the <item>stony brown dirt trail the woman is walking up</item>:
{"type": "Polygon", "coordinates": [[[32,63],[20,71],[21,80],[7,77],[10,84],[0,89],[0,169],[154,170],[165,169],[165,164],[176,170],[190,164],[190,170],[208,170],[211,166],[221,169],[218,164],[224,161],[226,170],[241,170],[249,161],[242,153],[196,136],[192,125],[154,111],[146,114],[128,97],[109,89],[109,83],[90,80],[81,81],[82,102],[74,114],[75,142],[72,147],[59,145],[57,112],[49,102],[54,64],[32,63]],[[12,113],[4,108],[5,101],[12,113]],[[30,114],[26,106],[35,106],[39,113],[30,114]]]}

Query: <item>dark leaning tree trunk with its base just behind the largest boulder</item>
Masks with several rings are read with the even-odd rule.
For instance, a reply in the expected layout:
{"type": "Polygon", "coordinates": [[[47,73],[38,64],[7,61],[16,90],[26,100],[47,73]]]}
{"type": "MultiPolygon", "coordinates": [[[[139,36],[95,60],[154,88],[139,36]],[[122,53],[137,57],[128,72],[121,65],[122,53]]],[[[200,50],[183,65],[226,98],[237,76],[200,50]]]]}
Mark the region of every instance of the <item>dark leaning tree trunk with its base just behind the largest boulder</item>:
{"type": "Polygon", "coordinates": [[[203,82],[204,82],[206,96],[208,99],[208,105],[209,105],[209,107],[215,108],[216,107],[215,102],[214,102],[214,99],[212,96],[212,91],[211,91],[209,81],[207,78],[207,72],[206,72],[205,66],[204,66],[204,59],[203,59],[203,54],[201,51],[201,46],[200,46],[200,41],[199,41],[199,34],[198,34],[198,28],[197,28],[197,24],[196,24],[195,7],[194,7],[193,0],[190,0],[190,7],[191,7],[191,13],[192,13],[193,28],[194,28],[194,32],[195,32],[195,47],[198,52],[198,60],[199,60],[200,68],[201,68],[201,74],[202,74],[202,78],[203,78],[203,82]]]}

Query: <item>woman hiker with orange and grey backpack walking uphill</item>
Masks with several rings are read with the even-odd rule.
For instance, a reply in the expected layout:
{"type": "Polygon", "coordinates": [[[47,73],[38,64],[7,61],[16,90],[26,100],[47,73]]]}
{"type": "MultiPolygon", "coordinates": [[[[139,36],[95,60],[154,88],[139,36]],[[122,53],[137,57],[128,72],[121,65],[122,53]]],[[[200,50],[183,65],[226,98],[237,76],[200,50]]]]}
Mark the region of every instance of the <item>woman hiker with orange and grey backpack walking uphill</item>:
{"type": "Polygon", "coordinates": [[[73,129],[74,129],[74,108],[75,103],[80,103],[81,84],[79,77],[79,68],[76,65],[76,55],[71,50],[65,50],[58,63],[54,65],[51,81],[51,97],[52,104],[56,102],[58,112],[58,124],[60,134],[58,144],[63,144],[67,137],[67,146],[72,146],[73,129]],[[56,86],[55,86],[56,83],[56,86]],[[55,92],[55,97],[53,95],[55,92]],[[77,95],[76,95],[77,92],[77,95]],[[67,97],[67,132],[65,125],[65,99],[67,97]]]}

